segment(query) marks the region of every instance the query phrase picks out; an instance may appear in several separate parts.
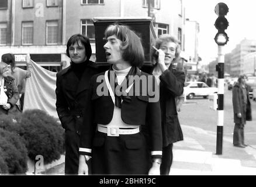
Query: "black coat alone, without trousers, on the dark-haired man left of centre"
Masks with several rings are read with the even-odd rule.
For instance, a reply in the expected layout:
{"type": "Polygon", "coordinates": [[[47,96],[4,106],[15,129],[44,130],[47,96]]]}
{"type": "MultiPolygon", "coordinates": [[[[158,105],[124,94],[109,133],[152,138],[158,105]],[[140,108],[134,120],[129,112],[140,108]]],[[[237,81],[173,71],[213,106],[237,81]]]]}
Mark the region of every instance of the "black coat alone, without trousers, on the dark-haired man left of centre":
{"type": "Polygon", "coordinates": [[[84,115],[89,79],[98,73],[98,68],[95,63],[88,61],[80,81],[70,70],[71,66],[57,73],[56,109],[63,128],[77,131],[79,134],[78,129],[84,115]]]}

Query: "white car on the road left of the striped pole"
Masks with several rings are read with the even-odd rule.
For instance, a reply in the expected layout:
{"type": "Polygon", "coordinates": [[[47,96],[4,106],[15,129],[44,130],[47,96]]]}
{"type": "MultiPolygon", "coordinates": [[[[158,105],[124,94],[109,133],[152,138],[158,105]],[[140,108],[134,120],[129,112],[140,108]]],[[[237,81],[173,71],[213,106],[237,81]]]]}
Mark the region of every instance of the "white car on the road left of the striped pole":
{"type": "Polygon", "coordinates": [[[211,93],[217,93],[218,89],[216,87],[209,87],[205,82],[192,81],[185,82],[184,94],[186,98],[192,99],[195,96],[203,96],[207,98],[211,93]]]}

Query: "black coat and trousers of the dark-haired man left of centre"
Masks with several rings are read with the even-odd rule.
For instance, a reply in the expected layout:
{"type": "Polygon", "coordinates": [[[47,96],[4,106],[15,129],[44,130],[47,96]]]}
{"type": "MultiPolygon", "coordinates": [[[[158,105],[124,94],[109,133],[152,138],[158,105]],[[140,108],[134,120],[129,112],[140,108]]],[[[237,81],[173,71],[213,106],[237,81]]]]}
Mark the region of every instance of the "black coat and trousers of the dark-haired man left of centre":
{"type": "Polygon", "coordinates": [[[92,61],[79,80],[71,66],[57,73],[56,110],[65,129],[65,174],[77,174],[79,165],[79,126],[82,125],[89,79],[98,73],[92,61]]]}

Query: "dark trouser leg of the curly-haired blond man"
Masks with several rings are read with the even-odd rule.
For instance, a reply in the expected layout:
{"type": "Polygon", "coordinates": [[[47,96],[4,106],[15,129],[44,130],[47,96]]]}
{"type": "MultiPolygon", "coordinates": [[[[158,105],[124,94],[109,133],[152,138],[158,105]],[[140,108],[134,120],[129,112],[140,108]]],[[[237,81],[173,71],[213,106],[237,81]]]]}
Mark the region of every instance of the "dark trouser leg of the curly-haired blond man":
{"type": "Polygon", "coordinates": [[[172,165],[172,143],[162,148],[162,164],[160,165],[160,175],[169,175],[172,165]]]}

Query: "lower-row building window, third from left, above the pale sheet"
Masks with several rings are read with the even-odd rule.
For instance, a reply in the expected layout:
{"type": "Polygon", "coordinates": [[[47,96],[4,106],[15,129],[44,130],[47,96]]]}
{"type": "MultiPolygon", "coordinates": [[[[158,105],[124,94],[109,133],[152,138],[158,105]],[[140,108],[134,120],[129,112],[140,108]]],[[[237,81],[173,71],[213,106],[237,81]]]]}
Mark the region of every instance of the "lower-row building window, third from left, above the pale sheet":
{"type": "Polygon", "coordinates": [[[57,21],[46,22],[46,44],[47,45],[58,44],[58,22],[57,21]]]}

